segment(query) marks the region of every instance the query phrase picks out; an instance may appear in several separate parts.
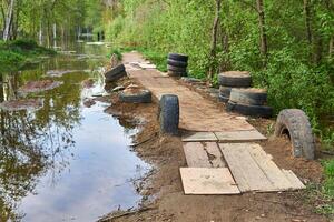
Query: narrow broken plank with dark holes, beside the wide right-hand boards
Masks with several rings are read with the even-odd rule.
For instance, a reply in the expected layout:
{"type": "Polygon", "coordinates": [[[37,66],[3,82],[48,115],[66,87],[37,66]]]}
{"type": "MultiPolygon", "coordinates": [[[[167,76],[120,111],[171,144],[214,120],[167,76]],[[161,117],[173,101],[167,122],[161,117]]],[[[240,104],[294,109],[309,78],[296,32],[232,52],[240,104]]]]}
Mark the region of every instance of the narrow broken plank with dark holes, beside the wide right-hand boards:
{"type": "Polygon", "coordinates": [[[213,168],[226,168],[227,164],[224,160],[223,153],[216,142],[205,142],[204,149],[207,152],[209,162],[213,168]]]}

